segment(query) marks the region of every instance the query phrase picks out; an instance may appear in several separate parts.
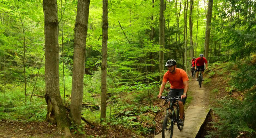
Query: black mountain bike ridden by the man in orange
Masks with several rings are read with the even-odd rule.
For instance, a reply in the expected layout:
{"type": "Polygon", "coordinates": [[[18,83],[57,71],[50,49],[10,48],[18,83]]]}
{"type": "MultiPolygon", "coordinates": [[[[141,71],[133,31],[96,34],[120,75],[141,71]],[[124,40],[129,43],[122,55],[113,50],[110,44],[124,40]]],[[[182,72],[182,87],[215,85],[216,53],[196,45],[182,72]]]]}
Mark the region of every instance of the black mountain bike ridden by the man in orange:
{"type": "MultiPolygon", "coordinates": [[[[173,126],[175,125],[175,123],[177,123],[179,130],[183,129],[183,125],[178,124],[180,116],[179,105],[177,104],[177,101],[179,99],[179,96],[173,98],[161,96],[160,98],[165,100],[165,104],[167,103],[168,99],[170,100],[170,105],[168,104],[168,108],[166,109],[166,115],[164,117],[162,125],[162,138],[172,138],[173,126]]],[[[185,114],[183,116],[183,121],[185,122],[185,114]]]]}

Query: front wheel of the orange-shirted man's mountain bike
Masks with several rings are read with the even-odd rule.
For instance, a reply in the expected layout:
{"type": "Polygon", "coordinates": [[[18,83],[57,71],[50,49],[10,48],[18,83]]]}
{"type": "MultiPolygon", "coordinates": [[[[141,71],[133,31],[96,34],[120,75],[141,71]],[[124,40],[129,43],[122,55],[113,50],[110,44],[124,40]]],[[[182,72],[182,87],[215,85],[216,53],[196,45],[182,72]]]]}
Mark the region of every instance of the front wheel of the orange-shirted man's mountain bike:
{"type": "Polygon", "coordinates": [[[173,115],[168,113],[164,117],[162,125],[162,138],[172,138],[173,135],[173,115]]]}

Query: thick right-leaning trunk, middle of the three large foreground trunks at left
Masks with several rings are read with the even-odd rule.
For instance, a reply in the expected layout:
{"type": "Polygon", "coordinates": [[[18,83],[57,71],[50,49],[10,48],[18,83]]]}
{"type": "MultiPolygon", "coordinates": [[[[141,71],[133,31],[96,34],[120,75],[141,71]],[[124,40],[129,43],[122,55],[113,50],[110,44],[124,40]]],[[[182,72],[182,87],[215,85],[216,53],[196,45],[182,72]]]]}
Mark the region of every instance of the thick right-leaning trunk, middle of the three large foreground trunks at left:
{"type": "Polygon", "coordinates": [[[78,0],[74,36],[74,63],[72,77],[72,96],[70,117],[81,126],[81,112],[83,100],[84,62],[86,52],[86,36],[89,17],[90,0],[78,0]]]}

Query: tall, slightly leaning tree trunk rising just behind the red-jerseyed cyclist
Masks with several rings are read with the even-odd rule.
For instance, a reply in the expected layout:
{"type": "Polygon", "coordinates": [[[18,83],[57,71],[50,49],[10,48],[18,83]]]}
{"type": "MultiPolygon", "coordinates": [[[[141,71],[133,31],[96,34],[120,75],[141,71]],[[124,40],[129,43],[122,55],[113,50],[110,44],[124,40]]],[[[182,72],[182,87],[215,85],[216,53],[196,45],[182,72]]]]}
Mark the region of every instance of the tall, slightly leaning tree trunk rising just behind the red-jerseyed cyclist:
{"type": "Polygon", "coordinates": [[[212,6],[213,6],[213,0],[209,0],[209,2],[208,2],[208,11],[207,11],[207,19],[206,19],[205,41],[204,41],[204,46],[205,46],[204,57],[206,59],[208,59],[208,51],[209,51],[209,43],[210,43],[212,6]]]}

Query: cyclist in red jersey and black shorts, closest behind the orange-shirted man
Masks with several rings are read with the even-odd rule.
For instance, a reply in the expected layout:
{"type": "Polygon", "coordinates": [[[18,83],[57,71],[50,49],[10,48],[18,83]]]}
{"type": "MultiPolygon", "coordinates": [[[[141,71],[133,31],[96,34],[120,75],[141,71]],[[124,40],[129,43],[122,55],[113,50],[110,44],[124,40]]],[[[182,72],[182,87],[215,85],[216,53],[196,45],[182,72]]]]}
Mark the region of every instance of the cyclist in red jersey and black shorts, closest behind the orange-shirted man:
{"type": "MultiPolygon", "coordinates": [[[[208,69],[207,60],[204,58],[203,54],[200,54],[199,58],[197,58],[195,61],[195,69],[197,71],[196,72],[196,81],[198,81],[198,74],[199,74],[198,69],[202,69],[202,76],[204,75],[204,64],[206,65],[206,69],[208,69]]],[[[204,81],[204,79],[202,81],[204,81]]]]}

